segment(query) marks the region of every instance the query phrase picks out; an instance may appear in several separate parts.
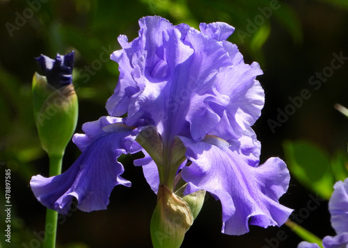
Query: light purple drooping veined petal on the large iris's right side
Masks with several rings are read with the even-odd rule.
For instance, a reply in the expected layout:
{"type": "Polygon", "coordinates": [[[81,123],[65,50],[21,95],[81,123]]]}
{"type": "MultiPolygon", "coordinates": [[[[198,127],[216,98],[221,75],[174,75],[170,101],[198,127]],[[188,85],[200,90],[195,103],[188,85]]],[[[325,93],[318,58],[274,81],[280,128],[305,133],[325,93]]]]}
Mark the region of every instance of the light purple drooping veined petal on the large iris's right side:
{"type": "Polygon", "coordinates": [[[269,158],[254,167],[232,151],[225,140],[213,136],[202,142],[180,139],[192,161],[189,167],[182,168],[182,179],[193,184],[193,189],[207,190],[220,199],[223,233],[242,235],[248,232],[248,224],[262,227],[284,224],[292,210],[278,202],[290,181],[283,160],[269,158]]]}

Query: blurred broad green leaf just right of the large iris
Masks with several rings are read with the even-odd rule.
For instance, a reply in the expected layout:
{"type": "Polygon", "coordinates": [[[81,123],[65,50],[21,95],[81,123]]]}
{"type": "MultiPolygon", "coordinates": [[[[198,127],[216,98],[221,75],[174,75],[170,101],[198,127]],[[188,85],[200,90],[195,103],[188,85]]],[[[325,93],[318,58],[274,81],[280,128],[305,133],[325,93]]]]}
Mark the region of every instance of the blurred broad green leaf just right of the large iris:
{"type": "Polygon", "coordinates": [[[331,159],[323,149],[308,141],[286,141],[283,144],[290,172],[309,190],[330,199],[335,176],[331,159]]]}

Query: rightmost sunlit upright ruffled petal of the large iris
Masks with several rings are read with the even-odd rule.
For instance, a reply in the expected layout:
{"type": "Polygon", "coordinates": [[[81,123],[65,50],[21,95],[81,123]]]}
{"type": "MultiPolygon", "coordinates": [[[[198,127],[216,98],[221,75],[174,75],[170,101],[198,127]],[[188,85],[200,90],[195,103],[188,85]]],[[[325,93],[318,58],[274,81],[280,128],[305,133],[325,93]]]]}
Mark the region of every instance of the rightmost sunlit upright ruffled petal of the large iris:
{"type": "MultiPolygon", "coordinates": [[[[216,90],[226,94],[230,102],[223,110],[221,122],[216,126],[219,137],[226,140],[239,138],[260,117],[264,106],[264,90],[256,76],[262,74],[260,65],[244,63],[242,53],[235,44],[223,42],[233,66],[218,74],[216,90]]],[[[217,110],[216,110],[217,112],[217,110]]]]}

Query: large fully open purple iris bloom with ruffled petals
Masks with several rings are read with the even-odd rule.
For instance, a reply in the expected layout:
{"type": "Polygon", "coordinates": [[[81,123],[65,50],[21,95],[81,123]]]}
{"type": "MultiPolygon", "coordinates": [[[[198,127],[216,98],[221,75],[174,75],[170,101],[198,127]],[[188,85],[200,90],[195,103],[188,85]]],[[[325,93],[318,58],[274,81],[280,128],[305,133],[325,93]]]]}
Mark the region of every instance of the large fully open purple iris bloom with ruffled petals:
{"type": "Polygon", "coordinates": [[[262,70],[258,63],[244,63],[237,46],[226,41],[235,28],[215,22],[200,24],[198,31],[157,16],[143,17],[139,25],[139,37],[128,42],[120,35],[122,49],[111,54],[120,76],[106,103],[110,116],[84,124],[85,134],[74,135],[82,154],[68,171],[48,179],[33,176],[35,197],[63,214],[73,197],[81,210],[105,209],[115,185],[130,185],[120,176],[124,169],[117,158],[138,151],[145,158],[134,165],[143,166],[157,192],[166,180],[135,141],[152,126],[164,154],[171,154],[177,138],[184,144],[186,160],[170,170],[187,183],[184,195],[206,190],[221,201],[223,233],[242,235],[248,224],[282,225],[292,213],[278,201],[290,174],[280,158],[260,165],[261,145],[251,126],[264,105],[255,79],[262,70]]]}

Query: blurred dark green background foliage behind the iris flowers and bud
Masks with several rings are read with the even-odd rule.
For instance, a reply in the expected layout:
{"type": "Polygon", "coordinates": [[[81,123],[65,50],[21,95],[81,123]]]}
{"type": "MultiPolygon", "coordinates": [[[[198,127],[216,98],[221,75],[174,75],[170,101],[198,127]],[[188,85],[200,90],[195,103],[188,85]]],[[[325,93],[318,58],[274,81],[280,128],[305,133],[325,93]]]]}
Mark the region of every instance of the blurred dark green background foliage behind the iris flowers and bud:
{"type": "MultiPolygon", "coordinates": [[[[261,160],[280,156],[292,173],[290,188],[280,201],[300,216],[294,222],[319,238],[334,235],[327,201],[319,201],[315,210],[308,210],[308,202],[317,194],[327,199],[331,192],[327,187],[321,190],[321,185],[331,188],[347,173],[348,119],[333,108],[336,103],[348,106],[346,0],[0,0],[0,202],[4,206],[5,170],[10,168],[13,204],[10,244],[2,235],[1,206],[1,247],[42,247],[45,208],[29,188],[31,176],[48,174],[48,158],[33,120],[31,79],[40,72],[34,58],[74,49],[81,133],[84,122],[107,115],[104,105],[118,80],[118,65],[109,60],[109,53],[120,49],[118,35],[136,38],[138,19],[145,15],[196,28],[200,22],[217,21],[235,26],[230,42],[238,45],[246,63],[258,61],[264,70],[259,80],[266,104],[255,124],[261,160]],[[333,167],[339,164],[333,177],[330,160],[333,167]],[[310,169],[303,172],[302,164],[310,164],[310,169]]],[[[63,171],[79,154],[70,142],[63,171]]],[[[151,247],[156,196],[141,168],[132,165],[134,158],[121,158],[123,176],[132,187],[116,187],[108,210],[72,210],[61,217],[58,247],[151,247]]],[[[299,242],[287,226],[251,226],[242,236],[221,234],[220,203],[208,196],[182,247],[296,247],[299,242]],[[279,231],[285,233],[280,239],[279,231]]]]}

